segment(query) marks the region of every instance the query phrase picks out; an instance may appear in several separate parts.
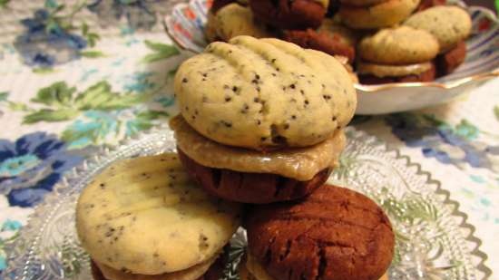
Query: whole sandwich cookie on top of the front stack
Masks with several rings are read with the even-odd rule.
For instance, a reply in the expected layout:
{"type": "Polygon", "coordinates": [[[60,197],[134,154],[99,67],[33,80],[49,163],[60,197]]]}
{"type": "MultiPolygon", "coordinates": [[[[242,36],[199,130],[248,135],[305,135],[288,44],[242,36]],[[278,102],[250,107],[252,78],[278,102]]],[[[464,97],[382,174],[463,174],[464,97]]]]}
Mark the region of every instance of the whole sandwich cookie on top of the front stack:
{"type": "Polygon", "coordinates": [[[182,63],[175,93],[182,162],[203,188],[247,203],[301,198],[322,185],[357,105],[334,57],[248,36],[182,63]]]}

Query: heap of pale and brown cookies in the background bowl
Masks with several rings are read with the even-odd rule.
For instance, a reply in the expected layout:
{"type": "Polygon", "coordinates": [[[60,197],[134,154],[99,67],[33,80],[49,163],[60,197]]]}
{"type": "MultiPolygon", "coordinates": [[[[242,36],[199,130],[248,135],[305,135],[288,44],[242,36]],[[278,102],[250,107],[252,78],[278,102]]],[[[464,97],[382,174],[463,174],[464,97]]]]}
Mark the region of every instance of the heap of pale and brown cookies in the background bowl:
{"type": "Polygon", "coordinates": [[[277,37],[341,57],[354,82],[377,84],[454,72],[471,25],[445,0],[214,0],[205,31],[210,42],[277,37]]]}

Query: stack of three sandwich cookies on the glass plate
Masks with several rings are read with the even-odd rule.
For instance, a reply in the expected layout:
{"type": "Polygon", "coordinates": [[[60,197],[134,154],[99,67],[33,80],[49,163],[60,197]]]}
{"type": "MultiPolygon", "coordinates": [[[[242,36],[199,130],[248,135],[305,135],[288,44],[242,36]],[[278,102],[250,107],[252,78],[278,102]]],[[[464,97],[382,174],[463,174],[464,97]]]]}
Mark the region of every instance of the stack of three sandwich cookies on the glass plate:
{"type": "Polygon", "coordinates": [[[326,185],[357,104],[341,63],[238,36],[182,63],[174,90],[178,154],[115,163],[78,201],[96,280],[217,280],[240,226],[243,279],[385,275],[395,243],[386,214],[326,185]]]}

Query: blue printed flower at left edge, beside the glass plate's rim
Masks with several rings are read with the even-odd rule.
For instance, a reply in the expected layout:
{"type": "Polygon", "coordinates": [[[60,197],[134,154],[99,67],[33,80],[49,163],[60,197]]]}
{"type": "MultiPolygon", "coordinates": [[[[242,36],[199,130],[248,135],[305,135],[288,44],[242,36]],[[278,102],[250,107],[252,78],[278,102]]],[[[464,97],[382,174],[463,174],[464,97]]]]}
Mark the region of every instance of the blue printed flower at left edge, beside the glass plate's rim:
{"type": "Polygon", "coordinates": [[[69,153],[63,141],[44,132],[0,140],[0,194],[11,206],[33,207],[52,190],[65,171],[83,158],[69,153]]]}

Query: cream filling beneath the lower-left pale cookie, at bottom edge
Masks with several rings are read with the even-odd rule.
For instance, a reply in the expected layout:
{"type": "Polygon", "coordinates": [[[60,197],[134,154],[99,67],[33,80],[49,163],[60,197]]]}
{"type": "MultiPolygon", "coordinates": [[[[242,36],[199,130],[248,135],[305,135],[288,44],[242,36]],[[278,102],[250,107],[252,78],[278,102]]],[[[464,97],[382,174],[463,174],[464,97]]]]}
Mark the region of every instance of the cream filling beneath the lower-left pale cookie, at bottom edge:
{"type": "Polygon", "coordinates": [[[208,271],[210,266],[219,256],[213,256],[206,262],[191,266],[187,269],[165,273],[161,275],[136,275],[129,272],[116,270],[110,266],[95,263],[103,273],[104,277],[109,280],[196,280],[208,271]]]}

